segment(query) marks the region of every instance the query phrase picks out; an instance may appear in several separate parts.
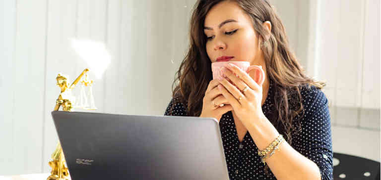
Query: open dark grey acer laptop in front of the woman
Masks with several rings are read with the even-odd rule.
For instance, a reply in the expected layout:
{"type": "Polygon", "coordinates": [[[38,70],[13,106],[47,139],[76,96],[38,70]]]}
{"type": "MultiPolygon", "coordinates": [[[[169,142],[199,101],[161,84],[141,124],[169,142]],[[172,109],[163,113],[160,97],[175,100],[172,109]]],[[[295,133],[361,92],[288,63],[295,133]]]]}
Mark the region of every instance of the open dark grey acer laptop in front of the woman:
{"type": "Polygon", "coordinates": [[[218,122],[53,111],[71,180],[228,180],[218,122]]]}

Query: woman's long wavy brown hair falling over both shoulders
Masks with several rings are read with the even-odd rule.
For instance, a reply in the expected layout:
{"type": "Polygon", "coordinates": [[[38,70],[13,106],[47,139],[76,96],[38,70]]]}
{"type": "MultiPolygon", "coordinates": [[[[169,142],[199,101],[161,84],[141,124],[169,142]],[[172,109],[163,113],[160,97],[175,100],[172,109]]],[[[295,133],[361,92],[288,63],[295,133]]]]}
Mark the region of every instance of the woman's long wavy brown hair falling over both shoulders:
{"type": "MultiPolygon", "coordinates": [[[[212,80],[211,60],[206,52],[206,35],[203,32],[204,20],[208,11],[224,0],[198,0],[193,7],[190,22],[190,47],[183,59],[172,84],[172,96],[176,102],[187,107],[189,116],[200,116],[202,100],[209,82],[212,80]],[[177,84],[178,83],[178,84],[177,84]]],[[[263,44],[261,49],[266,64],[267,78],[273,82],[274,112],[267,117],[286,141],[292,144],[292,135],[300,131],[300,120],[304,116],[301,88],[325,86],[305,75],[295,54],[290,49],[284,26],[274,7],[266,0],[230,0],[251,17],[253,27],[263,44]],[[262,26],[270,21],[271,34],[262,26]],[[266,38],[263,38],[266,37],[266,38]]],[[[254,49],[253,49],[254,50],[254,49]]],[[[170,112],[171,112],[170,111],[170,112]]],[[[268,166],[265,167],[268,174],[268,166]]]]}

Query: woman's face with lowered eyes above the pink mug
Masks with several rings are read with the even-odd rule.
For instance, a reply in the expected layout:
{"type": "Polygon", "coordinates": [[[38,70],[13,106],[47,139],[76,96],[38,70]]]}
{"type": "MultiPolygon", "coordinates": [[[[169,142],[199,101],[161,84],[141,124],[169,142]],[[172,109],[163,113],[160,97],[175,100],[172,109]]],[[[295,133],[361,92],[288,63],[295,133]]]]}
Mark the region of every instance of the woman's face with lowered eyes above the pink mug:
{"type": "Polygon", "coordinates": [[[252,20],[235,2],[223,1],[213,6],[206,14],[204,33],[212,63],[221,56],[230,56],[230,61],[265,67],[252,20]]]}

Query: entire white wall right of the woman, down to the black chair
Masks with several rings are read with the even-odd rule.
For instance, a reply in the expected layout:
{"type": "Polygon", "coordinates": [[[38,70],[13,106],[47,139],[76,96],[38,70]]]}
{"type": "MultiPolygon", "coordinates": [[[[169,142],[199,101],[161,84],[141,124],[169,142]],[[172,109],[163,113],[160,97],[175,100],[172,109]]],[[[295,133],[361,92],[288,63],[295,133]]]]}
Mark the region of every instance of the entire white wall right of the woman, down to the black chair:
{"type": "Polygon", "coordinates": [[[333,151],[380,161],[380,0],[272,2],[307,74],[327,84],[333,151]]]}

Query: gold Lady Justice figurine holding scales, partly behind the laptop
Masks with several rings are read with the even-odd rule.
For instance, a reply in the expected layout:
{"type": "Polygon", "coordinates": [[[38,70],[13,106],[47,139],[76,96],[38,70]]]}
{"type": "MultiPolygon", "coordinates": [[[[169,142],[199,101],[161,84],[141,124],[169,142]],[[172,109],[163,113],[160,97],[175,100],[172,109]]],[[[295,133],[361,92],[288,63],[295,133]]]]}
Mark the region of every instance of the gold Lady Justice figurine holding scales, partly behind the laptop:
{"type": "MultiPolygon", "coordinates": [[[[67,78],[64,77],[61,74],[58,74],[56,80],[57,85],[61,88],[61,93],[58,96],[56,100],[56,107],[54,108],[55,111],[58,111],[60,106],[62,106],[63,111],[71,111],[72,107],[75,102],[75,97],[71,95],[71,90],[74,89],[75,85],[81,80],[82,76],[85,75],[85,80],[83,80],[81,83],[82,85],[89,86],[91,90],[91,84],[93,81],[88,80],[87,72],[89,70],[85,69],[83,72],[75,79],[75,81],[70,85],[67,83],[67,78]]],[[[94,98],[92,97],[92,91],[91,98],[92,102],[94,101],[94,98]]],[[[92,103],[92,107],[94,108],[86,108],[86,109],[96,109],[95,105],[92,103]]],[[[52,154],[52,161],[49,162],[49,166],[52,167],[51,175],[48,177],[47,180],[70,180],[69,172],[65,163],[64,153],[62,151],[61,143],[58,142],[56,150],[52,154]]]]}

